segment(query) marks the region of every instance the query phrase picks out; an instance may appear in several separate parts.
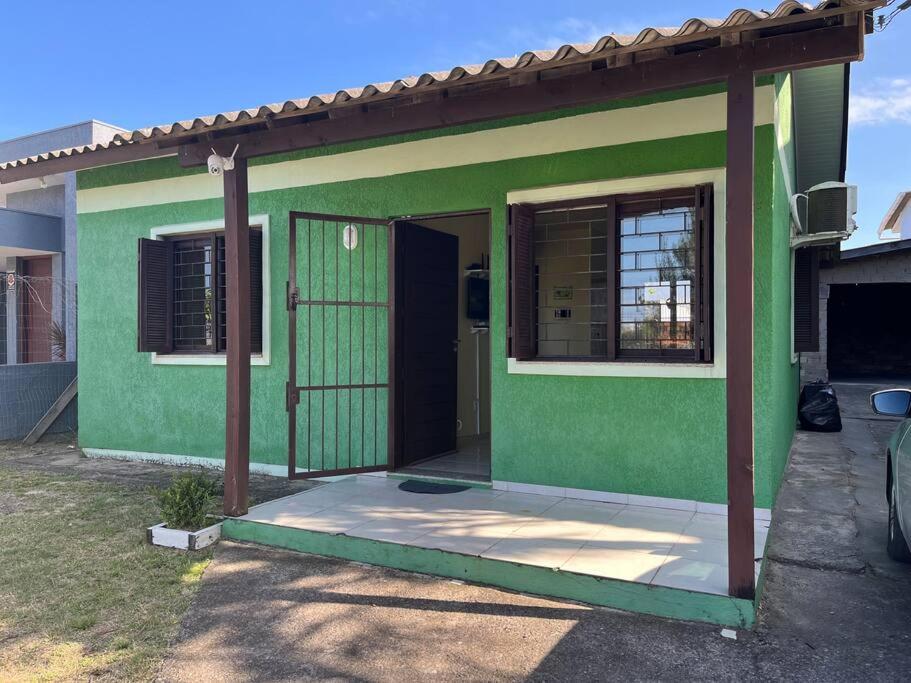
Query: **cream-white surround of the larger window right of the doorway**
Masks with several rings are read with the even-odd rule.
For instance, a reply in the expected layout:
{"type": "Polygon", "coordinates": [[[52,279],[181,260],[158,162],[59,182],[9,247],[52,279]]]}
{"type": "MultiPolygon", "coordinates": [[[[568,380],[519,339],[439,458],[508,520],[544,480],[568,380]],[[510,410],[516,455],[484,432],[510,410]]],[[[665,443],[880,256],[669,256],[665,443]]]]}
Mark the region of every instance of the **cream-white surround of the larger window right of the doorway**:
{"type": "Polygon", "coordinates": [[[506,194],[507,204],[541,204],[567,199],[585,199],[613,194],[656,192],[678,187],[711,184],[714,203],[712,319],[714,337],[711,363],[661,363],[655,361],[540,361],[507,359],[511,375],[561,375],[571,377],[670,377],[724,379],[727,377],[727,325],[725,308],[725,169],[713,168],[682,173],[618,178],[573,185],[555,185],[506,194]]]}

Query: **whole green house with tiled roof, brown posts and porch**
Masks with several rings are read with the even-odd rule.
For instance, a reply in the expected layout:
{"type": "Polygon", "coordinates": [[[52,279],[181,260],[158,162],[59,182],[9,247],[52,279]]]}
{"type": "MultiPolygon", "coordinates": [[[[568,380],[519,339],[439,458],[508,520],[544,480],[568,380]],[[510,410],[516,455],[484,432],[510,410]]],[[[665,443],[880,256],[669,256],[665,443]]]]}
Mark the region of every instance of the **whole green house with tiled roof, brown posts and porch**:
{"type": "Polygon", "coordinates": [[[78,170],[80,446],[225,468],[228,537],[751,623],[813,338],[790,199],[844,180],[869,7],[740,10],[0,166],[78,170]],[[248,511],[251,471],[328,477],[293,503],[314,520],[375,491],[371,528],[401,533],[248,511]],[[441,483],[456,497],[418,499],[441,483]],[[634,521],[585,564],[608,513],[634,521]],[[481,526],[531,550],[479,550],[481,526]],[[687,531],[703,555],[656,581],[687,531]]]}

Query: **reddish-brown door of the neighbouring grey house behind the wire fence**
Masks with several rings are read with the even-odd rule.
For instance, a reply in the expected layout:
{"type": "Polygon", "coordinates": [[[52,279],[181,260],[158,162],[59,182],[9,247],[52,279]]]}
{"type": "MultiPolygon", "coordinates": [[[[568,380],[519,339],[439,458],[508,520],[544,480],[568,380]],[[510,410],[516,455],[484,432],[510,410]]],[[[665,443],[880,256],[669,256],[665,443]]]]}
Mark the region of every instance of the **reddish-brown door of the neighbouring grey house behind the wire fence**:
{"type": "Polygon", "coordinates": [[[19,286],[19,362],[51,360],[51,257],[21,261],[24,276],[19,286]]]}

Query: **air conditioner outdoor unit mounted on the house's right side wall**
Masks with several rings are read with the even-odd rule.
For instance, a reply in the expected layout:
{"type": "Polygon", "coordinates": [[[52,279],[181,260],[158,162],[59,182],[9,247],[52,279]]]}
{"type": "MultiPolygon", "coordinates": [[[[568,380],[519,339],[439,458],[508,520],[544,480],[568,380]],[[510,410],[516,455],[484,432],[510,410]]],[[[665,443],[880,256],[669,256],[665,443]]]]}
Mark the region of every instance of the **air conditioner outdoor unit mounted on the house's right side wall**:
{"type": "Polygon", "coordinates": [[[797,224],[797,234],[791,238],[791,248],[810,245],[837,244],[846,240],[857,228],[857,186],[827,182],[814,185],[806,194],[791,197],[791,216],[797,224]],[[804,199],[801,210],[800,199],[804,199]]]}

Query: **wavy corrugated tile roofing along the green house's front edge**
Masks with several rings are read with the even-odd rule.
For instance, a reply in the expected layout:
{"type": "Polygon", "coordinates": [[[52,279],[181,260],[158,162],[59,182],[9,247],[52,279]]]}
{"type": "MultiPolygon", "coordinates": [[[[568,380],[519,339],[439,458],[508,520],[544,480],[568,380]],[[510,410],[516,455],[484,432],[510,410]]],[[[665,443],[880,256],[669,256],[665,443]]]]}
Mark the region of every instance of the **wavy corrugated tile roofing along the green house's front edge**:
{"type": "Polygon", "coordinates": [[[698,43],[723,35],[743,31],[754,31],[782,26],[795,21],[820,19],[843,14],[848,10],[858,11],[881,3],[870,0],[824,0],[815,7],[784,0],[771,11],[734,10],[723,20],[693,18],[675,28],[645,28],[636,35],[607,35],[594,43],[568,44],[556,50],[535,50],[517,57],[491,59],[484,64],[457,66],[447,71],[436,71],[384,83],[371,83],[361,88],[346,88],[336,93],[286,100],[251,109],[241,109],[201,116],[184,121],[150,128],[140,128],[130,133],[118,134],[110,142],[76,146],[45,154],[37,154],[16,161],[0,163],[0,170],[38,163],[48,159],[84,154],[96,150],[120,147],[135,143],[160,141],[163,138],[181,134],[206,134],[216,130],[251,123],[266,123],[271,119],[300,114],[308,111],[325,111],[352,102],[413,97],[418,92],[442,90],[458,82],[459,85],[484,83],[500,79],[514,72],[539,71],[554,67],[571,67],[575,64],[592,62],[596,59],[620,57],[634,52],[698,43]]]}

